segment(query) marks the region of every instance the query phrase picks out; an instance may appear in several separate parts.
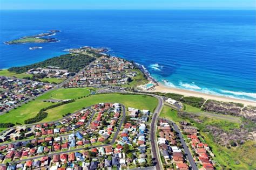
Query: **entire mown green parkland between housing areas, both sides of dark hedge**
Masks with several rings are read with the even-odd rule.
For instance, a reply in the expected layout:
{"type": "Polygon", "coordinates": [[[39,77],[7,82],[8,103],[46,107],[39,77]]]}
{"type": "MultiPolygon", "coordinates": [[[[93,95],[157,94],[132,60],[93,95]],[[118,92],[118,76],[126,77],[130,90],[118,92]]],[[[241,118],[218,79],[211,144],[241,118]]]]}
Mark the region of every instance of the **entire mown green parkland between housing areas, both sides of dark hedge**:
{"type": "MultiPolygon", "coordinates": [[[[25,119],[35,117],[38,111],[42,108],[46,108],[49,105],[55,104],[50,102],[43,102],[43,100],[51,99],[53,97],[57,97],[59,99],[66,98],[77,98],[79,96],[85,96],[89,93],[89,90],[84,88],[72,88],[72,89],[58,89],[49,91],[40,97],[38,97],[35,101],[31,101],[28,104],[23,104],[22,107],[18,107],[17,109],[11,110],[9,113],[0,116],[0,122],[5,123],[22,123],[24,124],[25,119]],[[79,95],[77,95],[79,94],[79,95]]],[[[124,104],[126,107],[133,107],[138,109],[148,109],[153,111],[158,104],[156,98],[151,96],[144,95],[123,95],[123,94],[100,94],[100,95],[91,95],[88,97],[77,99],[73,103],[61,105],[60,107],[49,109],[48,117],[43,119],[42,122],[54,121],[56,119],[62,118],[63,114],[68,112],[72,113],[77,110],[82,109],[83,107],[87,107],[93,104],[97,104],[100,102],[118,102],[124,104]]]]}

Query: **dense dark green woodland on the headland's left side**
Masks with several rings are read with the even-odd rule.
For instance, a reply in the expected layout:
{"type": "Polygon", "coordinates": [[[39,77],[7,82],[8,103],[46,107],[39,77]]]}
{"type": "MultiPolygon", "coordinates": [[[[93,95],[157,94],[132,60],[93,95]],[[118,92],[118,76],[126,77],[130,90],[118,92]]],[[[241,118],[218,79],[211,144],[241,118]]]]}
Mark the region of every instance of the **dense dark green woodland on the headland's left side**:
{"type": "Polygon", "coordinates": [[[31,65],[21,66],[21,67],[11,67],[8,69],[9,72],[15,72],[17,74],[25,73],[29,69],[38,67],[48,67],[55,66],[60,69],[68,69],[69,72],[78,72],[80,69],[89,65],[90,62],[94,61],[95,58],[84,55],[84,54],[64,54],[56,56],[51,59],[47,59],[41,62],[33,63],[31,65]]]}

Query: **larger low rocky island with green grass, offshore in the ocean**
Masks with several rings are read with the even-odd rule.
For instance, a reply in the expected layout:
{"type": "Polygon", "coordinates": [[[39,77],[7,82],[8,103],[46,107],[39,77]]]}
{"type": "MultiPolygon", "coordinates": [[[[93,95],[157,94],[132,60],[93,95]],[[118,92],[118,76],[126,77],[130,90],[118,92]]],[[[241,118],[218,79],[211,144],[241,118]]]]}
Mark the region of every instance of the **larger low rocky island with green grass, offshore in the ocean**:
{"type": "Polygon", "coordinates": [[[24,44],[24,43],[44,43],[44,42],[58,42],[56,38],[42,38],[54,36],[59,30],[50,30],[47,33],[41,33],[34,36],[25,36],[19,39],[6,41],[4,44],[12,45],[12,44],[24,44]]]}

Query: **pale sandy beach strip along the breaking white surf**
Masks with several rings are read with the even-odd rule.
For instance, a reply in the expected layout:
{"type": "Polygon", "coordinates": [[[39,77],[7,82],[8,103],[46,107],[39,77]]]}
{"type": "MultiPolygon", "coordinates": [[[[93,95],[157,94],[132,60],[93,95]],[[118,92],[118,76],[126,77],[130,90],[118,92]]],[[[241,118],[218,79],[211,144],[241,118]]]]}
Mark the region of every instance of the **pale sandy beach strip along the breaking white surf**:
{"type": "Polygon", "coordinates": [[[238,98],[231,98],[231,97],[225,97],[225,96],[205,94],[205,93],[200,93],[198,91],[191,91],[191,90],[184,90],[184,89],[166,87],[166,86],[163,86],[162,84],[159,84],[159,86],[155,87],[154,90],[150,90],[150,91],[152,91],[152,92],[161,92],[161,93],[177,93],[177,94],[181,94],[181,95],[184,95],[184,96],[203,97],[205,99],[211,99],[211,100],[216,100],[216,101],[235,102],[235,103],[242,103],[244,105],[256,106],[256,102],[254,102],[254,101],[248,101],[248,100],[242,100],[242,99],[238,99],[238,98]]]}

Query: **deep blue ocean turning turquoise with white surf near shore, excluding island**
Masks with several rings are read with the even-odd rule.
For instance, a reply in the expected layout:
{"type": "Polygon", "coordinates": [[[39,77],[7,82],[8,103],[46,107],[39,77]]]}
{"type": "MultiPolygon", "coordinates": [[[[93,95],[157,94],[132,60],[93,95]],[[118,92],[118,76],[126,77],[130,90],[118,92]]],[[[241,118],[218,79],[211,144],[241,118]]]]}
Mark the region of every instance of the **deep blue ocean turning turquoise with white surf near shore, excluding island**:
{"type": "Polygon", "coordinates": [[[256,101],[255,11],[30,10],[1,11],[0,17],[1,42],[62,31],[56,43],[1,43],[0,68],[42,61],[69,48],[108,47],[144,65],[166,86],[256,101]]]}

